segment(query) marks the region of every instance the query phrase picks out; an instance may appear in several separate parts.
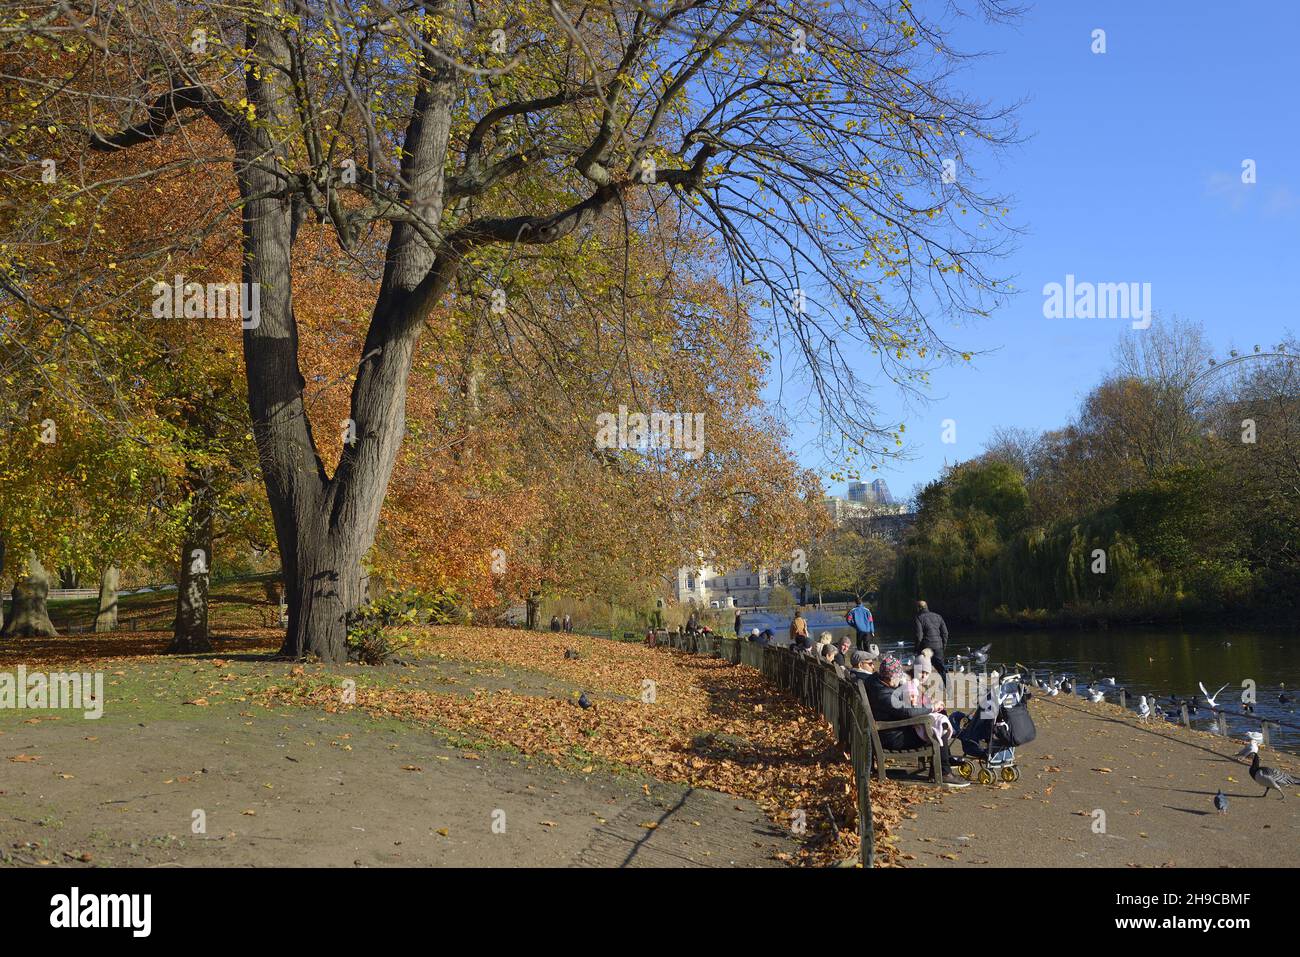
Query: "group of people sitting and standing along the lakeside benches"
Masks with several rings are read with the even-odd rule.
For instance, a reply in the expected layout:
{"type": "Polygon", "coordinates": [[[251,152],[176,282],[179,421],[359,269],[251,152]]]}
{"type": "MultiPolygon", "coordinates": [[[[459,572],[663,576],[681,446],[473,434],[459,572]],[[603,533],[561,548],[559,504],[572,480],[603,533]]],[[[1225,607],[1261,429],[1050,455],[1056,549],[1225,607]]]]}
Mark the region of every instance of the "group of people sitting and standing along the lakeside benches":
{"type": "MultiPolygon", "coordinates": [[[[930,718],[928,724],[915,724],[906,728],[888,728],[880,732],[880,744],[885,750],[910,750],[930,740],[940,742],[940,763],[942,781],[949,788],[966,788],[970,781],[958,778],[952,768],[949,750],[954,736],[952,719],[944,705],[944,684],[948,670],[944,663],[948,649],[948,624],[942,616],[931,611],[926,602],[916,602],[914,658],[910,666],[870,642],[876,625],[871,610],[859,599],[848,611],[845,622],[853,628],[853,635],[836,640],[831,632],[822,632],[814,641],[809,633],[807,619],[800,611],[790,620],[790,649],[796,654],[816,658],[827,666],[840,666],[850,681],[861,681],[867,703],[876,722],[897,722],[913,718],[930,718]]],[[[736,615],[736,637],[740,633],[740,615],[736,615]]],[[[753,628],[750,641],[771,645],[775,640],[771,628],[753,628]]]]}

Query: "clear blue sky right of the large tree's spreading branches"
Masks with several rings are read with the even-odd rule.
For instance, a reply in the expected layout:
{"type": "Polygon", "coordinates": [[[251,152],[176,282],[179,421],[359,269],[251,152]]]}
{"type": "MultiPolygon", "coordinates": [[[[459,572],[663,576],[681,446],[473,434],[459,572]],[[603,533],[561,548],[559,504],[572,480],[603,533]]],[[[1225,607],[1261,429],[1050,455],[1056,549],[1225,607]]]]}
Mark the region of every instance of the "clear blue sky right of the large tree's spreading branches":
{"type": "MultiPolygon", "coordinates": [[[[1297,36],[1300,4],[1290,1],[1044,0],[1011,25],[956,22],[958,49],[989,52],[958,78],[962,88],[1026,100],[1024,143],[982,170],[1024,229],[997,270],[1020,293],[979,325],[940,328],[953,345],[989,354],[936,371],[928,406],[907,410],[881,386],[875,398],[906,421],[914,458],[868,480],[907,495],[945,458],[979,454],[1000,425],[1070,420],[1128,322],[1044,319],[1044,283],[1067,273],[1152,283],[1156,312],[1204,324],[1219,355],[1300,332],[1297,36]],[[1096,29],[1105,53],[1091,49],[1096,29]],[[956,420],[956,443],[941,441],[945,419],[956,420]]],[[[797,432],[796,449],[824,477],[811,436],[797,432]]]]}

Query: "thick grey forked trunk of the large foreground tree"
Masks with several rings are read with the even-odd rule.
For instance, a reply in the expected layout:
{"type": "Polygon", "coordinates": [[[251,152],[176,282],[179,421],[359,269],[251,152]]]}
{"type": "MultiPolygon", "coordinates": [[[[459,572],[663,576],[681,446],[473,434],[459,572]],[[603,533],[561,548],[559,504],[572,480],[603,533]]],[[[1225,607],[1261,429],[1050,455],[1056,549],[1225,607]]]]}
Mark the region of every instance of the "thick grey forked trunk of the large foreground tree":
{"type": "MultiPolygon", "coordinates": [[[[248,411],[266,498],[276,523],[289,629],[282,654],[347,661],[347,618],[364,601],[361,560],[374,542],[380,508],[406,432],[407,376],[415,343],[446,293],[459,252],[436,264],[411,224],[394,222],[361,361],[352,386],[356,441],[328,476],[303,402],[298,330],[291,295],[291,250],[307,211],[285,198],[283,144],[272,140],[294,109],[290,56],[274,27],[250,26],[255,59],[282,69],[248,70],[247,98],[259,121],[237,144],[243,203],[243,281],[259,289],[260,315],[246,324],[248,411]]],[[[424,62],[402,160],[403,199],[426,222],[442,216],[443,178],[454,103],[454,70],[424,62]]]]}

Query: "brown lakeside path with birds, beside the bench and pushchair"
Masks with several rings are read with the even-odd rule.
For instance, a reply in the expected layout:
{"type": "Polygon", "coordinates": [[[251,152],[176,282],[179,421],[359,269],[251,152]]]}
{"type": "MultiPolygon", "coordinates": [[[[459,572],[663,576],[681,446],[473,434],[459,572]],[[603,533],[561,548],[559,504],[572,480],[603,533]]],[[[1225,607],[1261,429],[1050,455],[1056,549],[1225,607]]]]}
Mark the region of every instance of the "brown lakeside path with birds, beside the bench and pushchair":
{"type": "MultiPolygon", "coordinates": [[[[1262,798],[1231,757],[1242,741],[1078,697],[1037,696],[1031,707],[1039,735],[1018,750],[1020,780],[920,806],[898,828],[907,866],[1300,865],[1300,791],[1262,798]],[[1212,804],[1221,788],[1226,815],[1212,804]]],[[[1277,752],[1262,759],[1300,770],[1277,752]]]]}

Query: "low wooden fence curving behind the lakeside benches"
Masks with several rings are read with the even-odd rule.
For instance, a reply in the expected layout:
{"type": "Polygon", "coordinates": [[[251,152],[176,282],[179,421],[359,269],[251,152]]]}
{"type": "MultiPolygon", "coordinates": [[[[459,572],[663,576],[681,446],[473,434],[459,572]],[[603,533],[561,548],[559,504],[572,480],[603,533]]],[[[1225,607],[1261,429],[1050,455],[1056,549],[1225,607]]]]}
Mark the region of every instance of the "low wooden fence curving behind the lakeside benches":
{"type": "Polygon", "coordinates": [[[819,711],[835,729],[836,741],[849,752],[858,788],[858,839],[863,867],[875,863],[875,832],[871,826],[871,735],[867,729],[866,692],[858,681],[840,677],[835,668],[788,648],[738,641],[719,635],[659,632],[658,642],[722,658],[762,672],[780,690],[819,711]]]}

